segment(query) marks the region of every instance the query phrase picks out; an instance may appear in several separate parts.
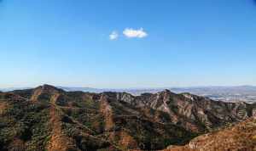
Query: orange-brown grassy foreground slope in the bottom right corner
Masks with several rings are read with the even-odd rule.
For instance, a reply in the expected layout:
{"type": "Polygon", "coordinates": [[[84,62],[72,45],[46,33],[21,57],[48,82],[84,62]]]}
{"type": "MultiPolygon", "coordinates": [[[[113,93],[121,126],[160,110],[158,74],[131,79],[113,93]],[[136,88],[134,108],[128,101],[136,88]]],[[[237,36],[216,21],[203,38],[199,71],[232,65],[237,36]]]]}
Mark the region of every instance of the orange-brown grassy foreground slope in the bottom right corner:
{"type": "Polygon", "coordinates": [[[256,150],[256,118],[251,118],[235,126],[213,131],[196,137],[183,147],[170,146],[164,151],[229,151],[256,150]]]}

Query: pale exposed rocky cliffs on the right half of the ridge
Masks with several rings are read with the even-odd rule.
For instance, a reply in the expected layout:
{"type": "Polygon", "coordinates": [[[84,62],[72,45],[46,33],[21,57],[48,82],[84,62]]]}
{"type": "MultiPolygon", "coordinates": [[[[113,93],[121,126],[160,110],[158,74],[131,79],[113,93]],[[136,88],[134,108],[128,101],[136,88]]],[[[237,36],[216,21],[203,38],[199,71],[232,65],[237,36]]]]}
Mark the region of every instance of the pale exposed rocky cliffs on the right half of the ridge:
{"type": "Polygon", "coordinates": [[[189,93],[175,94],[168,90],[155,94],[132,96],[128,93],[108,93],[110,100],[125,102],[136,108],[150,108],[165,112],[173,124],[189,131],[211,131],[226,123],[246,120],[255,114],[252,104],[224,103],[189,93]]]}

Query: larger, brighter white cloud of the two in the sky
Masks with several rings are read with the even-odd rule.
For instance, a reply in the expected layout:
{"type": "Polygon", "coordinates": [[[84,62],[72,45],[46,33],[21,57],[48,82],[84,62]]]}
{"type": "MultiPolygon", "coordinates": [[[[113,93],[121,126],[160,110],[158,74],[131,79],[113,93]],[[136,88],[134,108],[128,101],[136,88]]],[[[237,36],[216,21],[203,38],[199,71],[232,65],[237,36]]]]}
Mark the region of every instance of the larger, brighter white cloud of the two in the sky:
{"type": "Polygon", "coordinates": [[[143,38],[143,37],[148,36],[148,33],[143,31],[143,28],[140,28],[139,30],[134,30],[132,28],[126,28],[125,31],[123,31],[123,34],[129,38],[135,38],[135,37],[143,38]]]}

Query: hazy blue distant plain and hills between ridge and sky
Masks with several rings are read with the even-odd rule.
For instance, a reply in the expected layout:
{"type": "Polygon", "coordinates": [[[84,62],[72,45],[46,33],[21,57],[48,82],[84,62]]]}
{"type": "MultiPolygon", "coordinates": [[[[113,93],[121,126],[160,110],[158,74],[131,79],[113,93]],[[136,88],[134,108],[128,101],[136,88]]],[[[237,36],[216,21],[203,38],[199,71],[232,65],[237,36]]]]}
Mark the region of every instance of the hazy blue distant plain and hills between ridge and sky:
{"type": "MultiPolygon", "coordinates": [[[[29,89],[31,87],[9,87],[2,88],[0,91],[9,92],[13,90],[29,89]]],[[[224,102],[256,102],[256,87],[254,86],[236,86],[236,87],[162,87],[162,88],[93,88],[93,87],[58,87],[68,92],[129,92],[132,95],[141,95],[145,92],[160,92],[166,89],[176,92],[190,92],[195,95],[204,96],[213,100],[224,102]]]]}

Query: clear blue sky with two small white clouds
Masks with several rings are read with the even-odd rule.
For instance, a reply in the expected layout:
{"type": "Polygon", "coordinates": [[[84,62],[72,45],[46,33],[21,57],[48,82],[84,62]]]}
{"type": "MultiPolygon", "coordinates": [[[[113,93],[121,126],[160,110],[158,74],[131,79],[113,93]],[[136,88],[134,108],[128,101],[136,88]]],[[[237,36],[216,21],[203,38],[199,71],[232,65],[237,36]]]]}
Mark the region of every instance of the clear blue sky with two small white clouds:
{"type": "Polygon", "coordinates": [[[253,0],[0,0],[0,87],[256,85],[253,0]]]}

